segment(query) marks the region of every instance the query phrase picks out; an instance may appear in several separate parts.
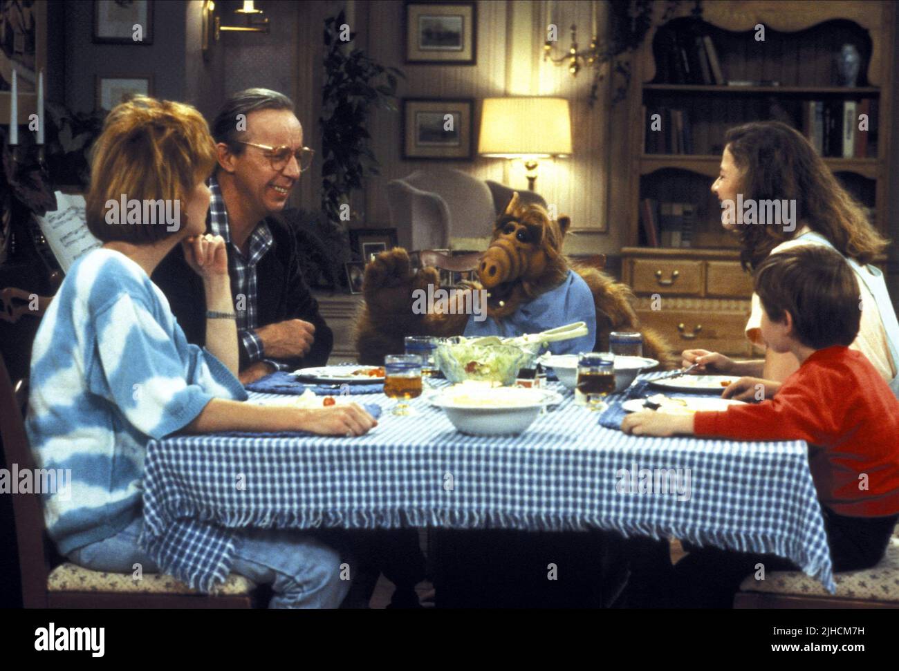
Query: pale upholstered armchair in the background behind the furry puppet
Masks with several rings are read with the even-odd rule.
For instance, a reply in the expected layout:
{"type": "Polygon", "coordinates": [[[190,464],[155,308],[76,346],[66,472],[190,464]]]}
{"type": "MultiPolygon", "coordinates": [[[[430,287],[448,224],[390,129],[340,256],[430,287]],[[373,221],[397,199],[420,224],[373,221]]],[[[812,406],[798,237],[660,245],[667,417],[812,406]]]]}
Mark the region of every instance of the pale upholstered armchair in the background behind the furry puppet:
{"type": "MultiPolygon", "coordinates": [[[[481,251],[512,192],[503,184],[459,170],[416,170],[387,182],[387,204],[401,247],[481,251]]],[[[520,190],[519,196],[546,207],[536,193],[520,190]]]]}

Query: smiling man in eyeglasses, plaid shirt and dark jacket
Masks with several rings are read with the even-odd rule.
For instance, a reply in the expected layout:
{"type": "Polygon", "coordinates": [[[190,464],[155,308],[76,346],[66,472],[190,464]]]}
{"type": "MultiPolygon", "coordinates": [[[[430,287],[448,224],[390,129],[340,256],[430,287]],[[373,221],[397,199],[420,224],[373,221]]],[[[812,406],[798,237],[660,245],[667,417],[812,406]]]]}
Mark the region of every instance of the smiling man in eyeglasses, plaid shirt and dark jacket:
{"type": "MultiPolygon", "coordinates": [[[[225,238],[234,294],[240,380],[322,366],[334,336],[298,266],[297,237],[279,213],[312,163],[290,99],[268,89],[234,93],[212,123],[218,167],[209,177],[208,233],[225,238]]],[[[188,340],[206,341],[206,300],[180,246],[159,264],[162,288],[188,340]]],[[[222,315],[228,318],[231,315],[222,315]]]]}

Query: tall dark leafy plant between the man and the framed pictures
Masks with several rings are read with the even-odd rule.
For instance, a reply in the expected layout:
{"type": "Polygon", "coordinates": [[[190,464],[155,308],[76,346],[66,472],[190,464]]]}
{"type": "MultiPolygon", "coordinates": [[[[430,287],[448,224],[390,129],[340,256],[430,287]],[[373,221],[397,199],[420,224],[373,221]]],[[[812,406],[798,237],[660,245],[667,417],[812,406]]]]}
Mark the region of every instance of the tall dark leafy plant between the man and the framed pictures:
{"type": "Polygon", "coordinates": [[[376,108],[396,111],[396,67],[380,65],[360,49],[351,49],[355,33],[342,31],[343,12],[325,19],[325,81],[322,85],[322,211],[340,225],[340,209],[364,178],[378,174],[365,126],[376,108]]]}

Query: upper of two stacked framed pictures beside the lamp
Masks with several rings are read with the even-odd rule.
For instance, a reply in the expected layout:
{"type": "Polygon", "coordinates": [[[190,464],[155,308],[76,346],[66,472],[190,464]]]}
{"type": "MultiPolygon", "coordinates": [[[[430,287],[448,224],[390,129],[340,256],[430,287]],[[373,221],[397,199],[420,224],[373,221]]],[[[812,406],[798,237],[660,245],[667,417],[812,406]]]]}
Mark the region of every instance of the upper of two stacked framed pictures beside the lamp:
{"type": "Polygon", "coordinates": [[[477,5],[405,4],[405,62],[473,66],[477,60],[477,5]]]}

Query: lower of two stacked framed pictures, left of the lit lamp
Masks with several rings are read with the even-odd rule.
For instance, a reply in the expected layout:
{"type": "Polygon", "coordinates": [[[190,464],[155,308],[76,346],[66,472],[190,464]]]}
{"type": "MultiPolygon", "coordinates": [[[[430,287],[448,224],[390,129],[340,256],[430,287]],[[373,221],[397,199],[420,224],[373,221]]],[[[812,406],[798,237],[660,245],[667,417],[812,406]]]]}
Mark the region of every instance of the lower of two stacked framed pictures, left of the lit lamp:
{"type": "Polygon", "coordinates": [[[405,159],[470,161],[474,152],[473,100],[403,99],[405,159]]]}

